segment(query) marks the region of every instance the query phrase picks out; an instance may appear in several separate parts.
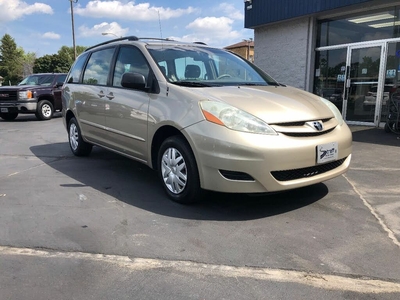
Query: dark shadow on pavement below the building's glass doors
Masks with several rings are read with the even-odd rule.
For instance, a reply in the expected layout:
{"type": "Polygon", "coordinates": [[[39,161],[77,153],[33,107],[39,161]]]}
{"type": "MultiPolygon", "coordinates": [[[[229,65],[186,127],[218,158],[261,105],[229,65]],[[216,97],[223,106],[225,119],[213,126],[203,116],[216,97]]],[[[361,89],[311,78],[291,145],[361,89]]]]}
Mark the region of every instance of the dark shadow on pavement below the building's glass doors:
{"type": "Polygon", "coordinates": [[[400,147],[400,135],[387,133],[382,128],[351,126],[353,141],[377,145],[400,147]]]}

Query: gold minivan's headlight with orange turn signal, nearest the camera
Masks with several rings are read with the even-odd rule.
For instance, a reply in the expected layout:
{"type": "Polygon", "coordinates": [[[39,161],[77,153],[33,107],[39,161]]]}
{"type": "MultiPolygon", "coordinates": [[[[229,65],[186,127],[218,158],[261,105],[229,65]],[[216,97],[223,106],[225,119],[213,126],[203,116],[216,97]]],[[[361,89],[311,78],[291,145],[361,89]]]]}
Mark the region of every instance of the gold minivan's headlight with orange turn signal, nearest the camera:
{"type": "Polygon", "coordinates": [[[231,105],[216,101],[201,101],[200,108],[209,122],[237,131],[277,135],[264,121],[231,105]]]}

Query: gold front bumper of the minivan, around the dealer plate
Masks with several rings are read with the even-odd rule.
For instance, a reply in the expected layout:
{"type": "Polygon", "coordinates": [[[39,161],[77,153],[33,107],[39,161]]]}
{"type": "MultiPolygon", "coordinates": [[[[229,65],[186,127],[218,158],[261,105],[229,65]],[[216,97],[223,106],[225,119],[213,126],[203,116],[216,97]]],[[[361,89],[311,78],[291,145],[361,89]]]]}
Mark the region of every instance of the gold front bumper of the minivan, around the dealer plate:
{"type": "Polygon", "coordinates": [[[202,188],[213,191],[265,193],[299,188],[346,172],[351,160],[352,135],[346,124],[320,136],[290,137],[237,132],[204,121],[186,128],[184,134],[195,154],[202,188]],[[329,167],[317,164],[317,145],[330,142],[338,143],[340,162],[329,167]],[[282,171],[303,174],[282,179],[276,175],[282,171]]]}

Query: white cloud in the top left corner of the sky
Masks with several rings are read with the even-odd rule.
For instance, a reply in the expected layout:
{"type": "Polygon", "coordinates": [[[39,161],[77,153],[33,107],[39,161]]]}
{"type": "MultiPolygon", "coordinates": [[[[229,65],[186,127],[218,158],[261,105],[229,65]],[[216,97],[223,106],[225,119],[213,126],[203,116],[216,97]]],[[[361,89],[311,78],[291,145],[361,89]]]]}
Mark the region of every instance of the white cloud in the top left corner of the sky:
{"type": "Polygon", "coordinates": [[[27,4],[21,0],[0,0],[0,23],[6,23],[37,13],[53,14],[53,9],[51,6],[39,2],[27,4]]]}

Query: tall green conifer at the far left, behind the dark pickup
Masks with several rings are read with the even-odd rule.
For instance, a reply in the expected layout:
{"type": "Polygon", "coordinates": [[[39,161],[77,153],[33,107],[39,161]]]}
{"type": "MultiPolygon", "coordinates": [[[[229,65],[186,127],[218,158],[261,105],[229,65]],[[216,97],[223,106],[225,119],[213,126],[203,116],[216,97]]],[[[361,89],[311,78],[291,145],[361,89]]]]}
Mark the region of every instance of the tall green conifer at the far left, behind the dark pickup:
{"type": "Polygon", "coordinates": [[[14,39],[5,34],[0,42],[0,76],[4,82],[17,84],[22,80],[24,50],[17,48],[14,39]]]}

